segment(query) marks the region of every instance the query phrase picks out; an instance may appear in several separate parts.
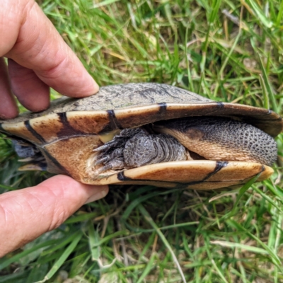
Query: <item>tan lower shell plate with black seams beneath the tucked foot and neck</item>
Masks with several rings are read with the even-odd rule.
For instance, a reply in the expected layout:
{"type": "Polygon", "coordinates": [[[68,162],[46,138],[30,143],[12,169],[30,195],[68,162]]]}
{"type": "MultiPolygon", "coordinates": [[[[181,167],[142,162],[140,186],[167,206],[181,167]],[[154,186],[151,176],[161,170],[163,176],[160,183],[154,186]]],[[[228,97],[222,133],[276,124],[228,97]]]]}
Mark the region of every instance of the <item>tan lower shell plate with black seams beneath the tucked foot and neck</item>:
{"type": "MultiPolygon", "coordinates": [[[[260,174],[258,181],[272,175],[269,166],[260,163],[233,161],[219,168],[216,161],[175,161],[133,168],[112,175],[104,175],[99,184],[158,185],[193,190],[214,190],[244,185],[260,174]]],[[[91,183],[91,180],[88,180],[91,183]]]]}

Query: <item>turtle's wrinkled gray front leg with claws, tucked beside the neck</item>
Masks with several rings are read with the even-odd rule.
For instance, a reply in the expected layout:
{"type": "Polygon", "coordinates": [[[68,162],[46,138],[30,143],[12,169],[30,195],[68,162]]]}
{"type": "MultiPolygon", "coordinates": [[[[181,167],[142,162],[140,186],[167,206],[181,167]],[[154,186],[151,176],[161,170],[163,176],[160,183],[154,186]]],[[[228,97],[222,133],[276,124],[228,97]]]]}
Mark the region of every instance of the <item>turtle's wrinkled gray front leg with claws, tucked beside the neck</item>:
{"type": "Polygon", "coordinates": [[[123,129],[112,141],[98,147],[100,173],[109,169],[137,168],[154,163],[187,160],[185,146],[168,134],[149,134],[144,129],[123,129]]]}

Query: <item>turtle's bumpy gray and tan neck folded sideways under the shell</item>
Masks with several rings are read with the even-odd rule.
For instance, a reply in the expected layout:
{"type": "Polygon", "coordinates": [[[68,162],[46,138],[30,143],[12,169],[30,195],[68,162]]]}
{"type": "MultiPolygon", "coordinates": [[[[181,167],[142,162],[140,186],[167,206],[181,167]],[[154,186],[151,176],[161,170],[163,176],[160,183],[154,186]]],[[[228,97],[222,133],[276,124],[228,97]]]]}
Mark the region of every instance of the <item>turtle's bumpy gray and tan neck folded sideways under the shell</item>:
{"type": "Polygon", "coordinates": [[[209,160],[248,161],[271,166],[275,140],[253,125],[227,117],[186,117],[156,122],[154,130],[171,134],[187,149],[209,160]]]}

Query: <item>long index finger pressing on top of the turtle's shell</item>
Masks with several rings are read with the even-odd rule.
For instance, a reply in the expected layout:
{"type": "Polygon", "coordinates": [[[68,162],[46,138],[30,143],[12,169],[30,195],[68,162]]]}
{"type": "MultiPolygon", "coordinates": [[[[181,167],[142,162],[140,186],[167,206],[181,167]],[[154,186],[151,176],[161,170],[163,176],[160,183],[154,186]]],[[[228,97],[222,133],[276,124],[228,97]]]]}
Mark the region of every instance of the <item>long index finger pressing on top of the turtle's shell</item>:
{"type": "MultiPolygon", "coordinates": [[[[24,6],[21,1],[9,2],[15,6],[9,10],[10,21],[16,21],[18,25],[16,25],[16,35],[14,30],[11,30],[13,33],[11,37],[6,32],[7,29],[10,30],[8,17],[2,16],[4,23],[0,25],[0,34],[2,35],[3,32],[4,38],[1,38],[1,42],[7,42],[7,38],[9,42],[14,42],[12,47],[8,45],[11,49],[6,45],[2,47],[2,52],[6,50],[5,56],[23,67],[33,69],[48,86],[66,96],[83,97],[96,93],[98,85],[40,7],[32,0],[23,1],[24,6]],[[18,6],[22,6],[21,10],[18,6]]],[[[3,13],[3,10],[0,13],[3,13]]],[[[14,24],[11,26],[15,28],[14,24]]]]}

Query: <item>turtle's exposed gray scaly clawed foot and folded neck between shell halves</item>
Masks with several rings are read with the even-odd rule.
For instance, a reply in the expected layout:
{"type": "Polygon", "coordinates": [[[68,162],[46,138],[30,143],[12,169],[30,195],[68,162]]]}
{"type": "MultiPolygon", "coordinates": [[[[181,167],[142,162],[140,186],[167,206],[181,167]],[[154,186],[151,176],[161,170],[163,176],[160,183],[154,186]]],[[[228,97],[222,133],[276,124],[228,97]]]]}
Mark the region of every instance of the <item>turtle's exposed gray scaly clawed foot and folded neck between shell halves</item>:
{"type": "Polygon", "coordinates": [[[226,117],[185,117],[156,122],[154,129],[166,134],[123,129],[112,141],[95,149],[100,151],[96,165],[104,164],[99,171],[187,160],[186,148],[216,161],[271,165],[277,158],[277,144],[270,135],[226,117]]]}

